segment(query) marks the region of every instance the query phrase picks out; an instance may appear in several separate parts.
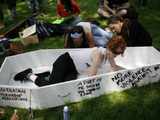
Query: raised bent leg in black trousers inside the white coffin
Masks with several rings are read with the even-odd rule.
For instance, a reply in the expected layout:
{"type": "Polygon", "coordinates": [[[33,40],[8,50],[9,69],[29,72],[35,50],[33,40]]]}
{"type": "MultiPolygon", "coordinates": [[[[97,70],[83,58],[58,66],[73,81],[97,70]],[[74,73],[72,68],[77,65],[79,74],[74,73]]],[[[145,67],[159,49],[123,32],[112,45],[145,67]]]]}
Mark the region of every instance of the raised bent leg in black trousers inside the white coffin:
{"type": "Polygon", "coordinates": [[[66,52],[58,57],[58,59],[53,63],[49,82],[51,84],[65,82],[68,80],[76,79],[77,75],[78,72],[76,70],[75,64],[69,53],[66,52]]]}

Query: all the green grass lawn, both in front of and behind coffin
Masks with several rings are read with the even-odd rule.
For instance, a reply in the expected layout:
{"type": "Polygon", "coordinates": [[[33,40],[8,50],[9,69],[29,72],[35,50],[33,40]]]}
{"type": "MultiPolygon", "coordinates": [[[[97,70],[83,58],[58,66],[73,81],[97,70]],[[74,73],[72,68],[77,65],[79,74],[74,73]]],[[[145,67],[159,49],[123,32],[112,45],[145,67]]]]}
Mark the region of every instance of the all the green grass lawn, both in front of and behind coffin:
{"type": "MultiPolygon", "coordinates": [[[[51,22],[55,16],[55,1],[49,0],[49,9],[47,13],[38,18],[51,22]]],[[[133,0],[132,0],[133,1],[133,0]]],[[[104,26],[104,20],[98,18],[96,14],[98,0],[78,0],[81,6],[82,19],[94,18],[100,21],[104,26]]],[[[153,37],[153,46],[160,48],[160,1],[152,0],[147,7],[137,7],[140,22],[151,33],[153,37]]],[[[29,10],[24,2],[18,4],[19,18],[23,19],[29,15],[29,10]]],[[[11,27],[15,22],[6,17],[6,25],[11,27]]],[[[25,48],[25,51],[32,51],[46,48],[63,48],[63,37],[46,38],[38,45],[31,45],[25,48]]],[[[3,57],[0,61],[3,61],[3,57]]],[[[115,92],[103,95],[98,98],[87,99],[79,103],[68,104],[70,108],[71,120],[157,120],[160,111],[160,83],[150,84],[141,88],[133,88],[123,92],[115,92]]],[[[3,120],[9,120],[14,108],[5,107],[3,120]]],[[[62,120],[63,106],[49,108],[45,110],[35,110],[33,115],[35,120],[62,120]]],[[[29,112],[26,109],[18,109],[18,115],[22,120],[29,119],[29,112]]],[[[1,120],[2,120],[1,119],[1,120]]]]}

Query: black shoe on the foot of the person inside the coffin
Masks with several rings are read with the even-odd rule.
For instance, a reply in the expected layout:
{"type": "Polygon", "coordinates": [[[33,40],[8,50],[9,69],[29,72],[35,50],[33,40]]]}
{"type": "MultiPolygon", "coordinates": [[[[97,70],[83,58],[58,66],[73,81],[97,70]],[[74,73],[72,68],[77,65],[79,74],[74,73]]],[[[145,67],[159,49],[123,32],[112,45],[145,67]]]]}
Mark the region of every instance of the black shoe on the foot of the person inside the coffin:
{"type": "Polygon", "coordinates": [[[32,73],[32,69],[31,69],[31,68],[25,69],[24,71],[16,74],[16,75],[14,76],[14,80],[15,80],[15,81],[21,81],[21,82],[27,81],[27,80],[29,80],[29,79],[27,78],[27,76],[28,76],[29,73],[32,73]]]}

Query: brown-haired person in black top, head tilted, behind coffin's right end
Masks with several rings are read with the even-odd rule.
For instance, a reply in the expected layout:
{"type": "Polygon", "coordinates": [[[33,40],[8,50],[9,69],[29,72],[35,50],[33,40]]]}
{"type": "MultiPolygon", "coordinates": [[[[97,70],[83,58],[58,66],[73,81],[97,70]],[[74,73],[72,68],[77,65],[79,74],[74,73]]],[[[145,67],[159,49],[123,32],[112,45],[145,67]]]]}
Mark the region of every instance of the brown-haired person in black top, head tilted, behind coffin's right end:
{"type": "Polygon", "coordinates": [[[112,17],[109,27],[116,34],[123,36],[127,46],[152,46],[151,35],[137,19],[112,17]]]}

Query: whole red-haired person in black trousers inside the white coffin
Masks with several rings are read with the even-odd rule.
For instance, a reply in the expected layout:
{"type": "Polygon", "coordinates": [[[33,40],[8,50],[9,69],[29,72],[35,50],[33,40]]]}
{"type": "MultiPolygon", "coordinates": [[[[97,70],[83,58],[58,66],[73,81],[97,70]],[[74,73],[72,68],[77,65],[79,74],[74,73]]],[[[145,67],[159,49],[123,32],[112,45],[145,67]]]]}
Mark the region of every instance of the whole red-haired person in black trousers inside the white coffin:
{"type": "MultiPolygon", "coordinates": [[[[79,78],[80,75],[86,74],[87,76],[93,76],[99,74],[101,67],[103,67],[106,62],[110,64],[111,71],[117,71],[124,69],[118,66],[114,58],[118,55],[123,55],[126,49],[126,42],[122,36],[113,36],[112,39],[107,43],[106,48],[91,48],[89,53],[90,63],[81,63],[80,57],[84,57],[84,51],[81,54],[84,56],[73,56],[72,54],[66,52],[60,55],[57,60],[53,63],[52,72],[45,72],[34,74],[31,68],[28,68],[14,76],[15,81],[33,81],[37,86],[45,86],[50,84],[55,84],[59,82],[65,82],[69,80],[74,80],[79,78]],[[74,57],[74,59],[73,59],[74,57]],[[79,63],[76,62],[79,60],[79,63]],[[85,66],[83,70],[77,69],[77,66],[85,66]],[[79,76],[78,76],[79,75],[79,76]]],[[[104,70],[103,73],[106,73],[104,70]]],[[[100,73],[101,74],[101,73],[100,73]]]]}

